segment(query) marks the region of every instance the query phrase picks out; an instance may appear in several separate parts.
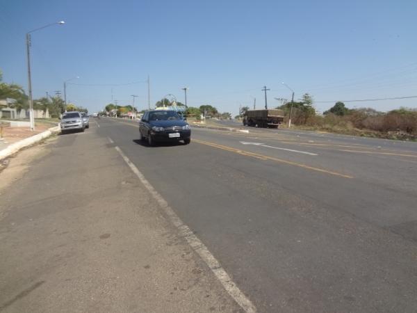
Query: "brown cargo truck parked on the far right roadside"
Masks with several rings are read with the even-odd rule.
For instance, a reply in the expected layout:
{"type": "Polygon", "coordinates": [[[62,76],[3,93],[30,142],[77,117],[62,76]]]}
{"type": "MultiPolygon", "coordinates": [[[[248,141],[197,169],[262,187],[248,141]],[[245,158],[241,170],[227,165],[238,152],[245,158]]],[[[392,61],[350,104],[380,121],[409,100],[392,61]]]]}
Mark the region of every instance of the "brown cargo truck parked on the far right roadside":
{"type": "Polygon", "coordinates": [[[243,115],[243,125],[254,127],[278,128],[284,121],[284,111],[272,110],[247,110],[243,115]]]}

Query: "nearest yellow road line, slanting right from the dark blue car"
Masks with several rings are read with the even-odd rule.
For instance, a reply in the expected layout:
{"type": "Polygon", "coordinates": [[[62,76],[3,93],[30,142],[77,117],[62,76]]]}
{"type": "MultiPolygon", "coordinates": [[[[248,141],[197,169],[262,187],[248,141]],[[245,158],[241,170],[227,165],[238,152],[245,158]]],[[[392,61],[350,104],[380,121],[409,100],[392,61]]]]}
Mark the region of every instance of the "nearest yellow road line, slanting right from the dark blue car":
{"type": "Polygon", "coordinates": [[[307,166],[307,165],[302,164],[302,163],[287,161],[287,160],[283,160],[283,159],[277,159],[275,157],[268,157],[268,156],[265,156],[263,154],[258,154],[258,153],[249,152],[249,151],[243,151],[243,150],[239,150],[239,149],[236,149],[236,148],[233,148],[233,147],[227,147],[225,145],[218,145],[217,143],[211,143],[211,142],[208,142],[208,141],[200,141],[198,139],[193,139],[193,142],[194,143],[199,143],[201,145],[209,145],[211,147],[215,147],[215,148],[218,148],[218,149],[221,149],[221,150],[226,150],[226,151],[229,151],[229,152],[234,152],[234,153],[237,153],[237,154],[240,154],[240,155],[244,155],[246,157],[253,157],[253,158],[261,159],[261,160],[264,160],[264,161],[266,161],[266,160],[275,161],[275,162],[279,162],[279,163],[288,164],[288,165],[291,165],[291,166],[298,166],[300,168],[305,168],[306,170],[314,170],[316,172],[324,172],[325,174],[334,175],[334,176],[343,177],[343,178],[353,178],[350,175],[345,175],[345,174],[342,174],[340,172],[333,172],[331,170],[325,170],[324,168],[315,168],[313,166],[307,166]]]}

